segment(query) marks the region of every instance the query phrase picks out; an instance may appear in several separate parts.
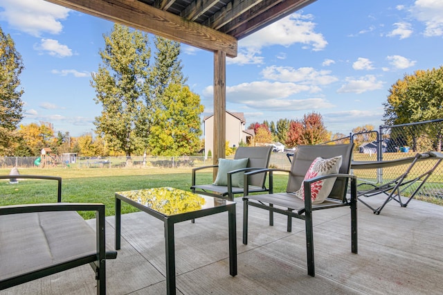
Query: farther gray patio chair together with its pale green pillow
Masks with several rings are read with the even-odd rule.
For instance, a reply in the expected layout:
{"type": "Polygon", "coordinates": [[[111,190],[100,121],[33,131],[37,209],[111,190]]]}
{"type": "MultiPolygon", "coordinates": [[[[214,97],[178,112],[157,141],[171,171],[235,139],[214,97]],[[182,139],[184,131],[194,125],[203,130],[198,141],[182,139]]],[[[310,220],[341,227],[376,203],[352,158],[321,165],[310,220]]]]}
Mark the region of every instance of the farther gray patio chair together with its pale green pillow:
{"type": "MultiPolygon", "coordinates": [[[[239,163],[239,166],[237,167],[240,168],[237,169],[230,169],[229,167],[235,166],[230,166],[230,163],[232,163],[230,161],[232,160],[226,159],[220,159],[219,165],[216,166],[204,166],[192,169],[192,193],[220,197],[222,199],[233,201],[235,195],[242,194],[244,192],[244,172],[268,168],[272,148],[272,146],[238,147],[235,151],[234,160],[238,160],[238,162],[242,162],[241,159],[248,160],[244,160],[243,163],[239,163]],[[208,168],[219,168],[215,184],[197,184],[197,171],[208,168]],[[224,177],[225,174],[226,178],[224,177]],[[217,183],[218,179],[226,179],[226,182],[222,180],[217,183]]],[[[251,175],[251,177],[248,177],[248,192],[267,192],[269,189],[266,188],[265,182],[266,173],[251,175]]]]}

